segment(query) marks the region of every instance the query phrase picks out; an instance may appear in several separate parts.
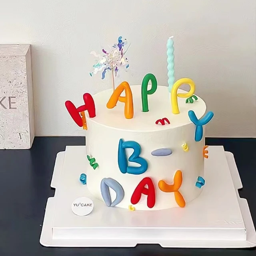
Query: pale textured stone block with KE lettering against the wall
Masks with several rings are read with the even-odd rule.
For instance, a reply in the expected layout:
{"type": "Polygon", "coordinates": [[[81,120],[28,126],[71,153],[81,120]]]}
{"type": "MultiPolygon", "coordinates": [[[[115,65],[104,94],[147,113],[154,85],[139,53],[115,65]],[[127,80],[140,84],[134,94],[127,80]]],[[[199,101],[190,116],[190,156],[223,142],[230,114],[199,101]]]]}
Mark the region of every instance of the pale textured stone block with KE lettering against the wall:
{"type": "Polygon", "coordinates": [[[29,44],[0,45],[0,148],[31,148],[35,136],[29,44]]]}

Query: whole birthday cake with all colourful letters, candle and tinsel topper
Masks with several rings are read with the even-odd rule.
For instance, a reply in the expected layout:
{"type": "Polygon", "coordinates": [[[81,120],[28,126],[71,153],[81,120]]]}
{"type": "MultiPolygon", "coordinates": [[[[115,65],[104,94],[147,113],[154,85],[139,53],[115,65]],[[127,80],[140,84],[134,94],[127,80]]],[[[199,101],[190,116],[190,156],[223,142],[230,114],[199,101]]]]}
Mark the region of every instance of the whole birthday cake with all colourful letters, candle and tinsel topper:
{"type": "MultiPolygon", "coordinates": [[[[97,71],[113,75],[118,65],[127,67],[124,45],[118,38],[112,56],[102,50],[105,55],[94,66],[97,71]],[[118,64],[110,63],[118,54],[118,64]]],[[[131,211],[184,207],[207,186],[204,127],[213,113],[206,113],[191,79],[175,82],[172,38],[167,49],[169,86],[158,85],[153,74],[146,74],[141,85],[122,82],[94,95],[85,93],[78,108],[66,102],[73,120],[86,130],[83,184],[106,207],[131,211]],[[189,92],[180,89],[182,84],[190,86],[189,92]]]]}

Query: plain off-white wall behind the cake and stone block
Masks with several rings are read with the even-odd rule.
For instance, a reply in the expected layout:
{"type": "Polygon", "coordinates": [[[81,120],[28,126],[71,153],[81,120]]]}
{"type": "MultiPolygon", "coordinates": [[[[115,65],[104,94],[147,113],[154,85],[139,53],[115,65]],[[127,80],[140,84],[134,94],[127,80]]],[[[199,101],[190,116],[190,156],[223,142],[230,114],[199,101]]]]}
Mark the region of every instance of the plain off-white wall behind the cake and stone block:
{"type": "Polygon", "coordinates": [[[6,0],[0,44],[32,44],[38,136],[84,135],[64,102],[111,88],[89,76],[92,50],[122,35],[131,42],[122,80],[140,84],[153,72],[167,85],[166,40],[174,35],[176,78],[192,78],[215,113],[206,135],[256,137],[255,13],[255,0],[6,0]]]}

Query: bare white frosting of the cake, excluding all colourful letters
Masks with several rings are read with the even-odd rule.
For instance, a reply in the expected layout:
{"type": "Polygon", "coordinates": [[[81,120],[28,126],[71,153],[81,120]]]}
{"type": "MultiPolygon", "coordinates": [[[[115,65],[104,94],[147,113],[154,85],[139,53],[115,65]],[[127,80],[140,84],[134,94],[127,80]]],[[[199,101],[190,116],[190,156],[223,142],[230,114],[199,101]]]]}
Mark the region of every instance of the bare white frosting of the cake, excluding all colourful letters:
{"type": "MultiPolygon", "coordinates": [[[[112,90],[105,90],[93,96],[96,105],[96,117],[87,118],[86,154],[96,159],[99,164],[94,170],[89,162],[86,166],[87,186],[90,192],[102,200],[100,183],[103,178],[113,178],[124,189],[124,198],[117,207],[127,208],[131,205],[131,197],[136,186],[145,178],[150,177],[156,191],[154,207],[148,208],[146,195],[142,194],[136,210],[160,210],[177,206],[174,193],[162,192],[158,182],[165,180],[172,184],[177,170],[182,171],[183,181],[180,193],[185,202],[194,200],[201,192],[195,186],[198,176],[204,176],[204,157],[202,154],[204,138],[200,142],[194,140],[195,126],[188,118],[188,110],[194,110],[201,118],[205,111],[204,101],[198,97],[193,104],[186,104],[185,99],[179,100],[181,114],[175,115],[170,111],[170,94],[168,87],[158,86],[156,92],[148,96],[149,112],[142,112],[141,86],[131,86],[134,117],[124,118],[124,106],[118,102],[115,108],[108,109],[106,104],[112,90]],[[161,100],[160,100],[161,99],[161,100]],[[160,118],[168,118],[170,124],[156,124],[160,118]],[[135,141],[141,147],[140,156],[148,162],[148,169],[143,174],[123,174],[118,167],[119,140],[135,141]],[[186,143],[189,150],[185,152],[182,144],[186,143]],[[152,156],[159,148],[172,150],[168,156],[152,156]]],[[[127,157],[134,150],[126,149],[127,157]]],[[[129,166],[139,166],[129,162],[129,166]]],[[[110,190],[111,198],[115,198],[114,190],[110,190]]]]}

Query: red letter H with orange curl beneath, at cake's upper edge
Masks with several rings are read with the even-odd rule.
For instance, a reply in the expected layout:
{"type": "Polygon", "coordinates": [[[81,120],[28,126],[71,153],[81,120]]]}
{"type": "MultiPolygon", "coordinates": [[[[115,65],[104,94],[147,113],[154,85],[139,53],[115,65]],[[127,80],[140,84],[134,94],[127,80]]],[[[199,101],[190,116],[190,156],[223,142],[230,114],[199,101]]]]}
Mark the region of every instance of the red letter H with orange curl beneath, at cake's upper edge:
{"type": "Polygon", "coordinates": [[[76,108],[75,105],[70,100],[67,100],[65,102],[65,106],[66,106],[66,109],[68,110],[68,113],[70,114],[72,119],[75,121],[75,123],[78,126],[83,127],[85,130],[87,130],[86,117],[85,117],[84,111],[87,110],[89,117],[94,118],[96,116],[96,110],[95,110],[94,100],[90,93],[86,92],[83,95],[83,99],[84,99],[84,105],[78,108],[76,108]]]}

